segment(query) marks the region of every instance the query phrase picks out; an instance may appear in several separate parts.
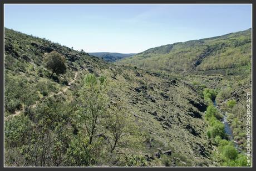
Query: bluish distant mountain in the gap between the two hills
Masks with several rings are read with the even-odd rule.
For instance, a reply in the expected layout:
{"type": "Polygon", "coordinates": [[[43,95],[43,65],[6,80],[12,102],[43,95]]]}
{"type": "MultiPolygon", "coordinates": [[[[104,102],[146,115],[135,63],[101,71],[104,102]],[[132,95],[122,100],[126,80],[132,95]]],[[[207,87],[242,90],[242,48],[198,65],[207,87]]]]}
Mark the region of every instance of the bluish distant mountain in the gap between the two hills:
{"type": "Polygon", "coordinates": [[[135,55],[135,54],[121,54],[121,53],[110,53],[110,52],[95,52],[95,53],[89,53],[89,54],[96,56],[98,58],[102,58],[107,62],[115,62],[117,60],[135,55]]]}

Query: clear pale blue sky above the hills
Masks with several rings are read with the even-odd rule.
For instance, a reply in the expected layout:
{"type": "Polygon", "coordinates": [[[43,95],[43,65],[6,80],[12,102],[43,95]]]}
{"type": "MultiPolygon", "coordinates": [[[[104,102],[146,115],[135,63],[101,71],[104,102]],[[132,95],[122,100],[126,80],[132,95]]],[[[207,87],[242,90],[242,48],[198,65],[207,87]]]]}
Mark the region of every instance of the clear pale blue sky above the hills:
{"type": "Polygon", "coordinates": [[[252,27],[250,4],[5,4],[4,26],[86,52],[139,53],[252,27]]]}

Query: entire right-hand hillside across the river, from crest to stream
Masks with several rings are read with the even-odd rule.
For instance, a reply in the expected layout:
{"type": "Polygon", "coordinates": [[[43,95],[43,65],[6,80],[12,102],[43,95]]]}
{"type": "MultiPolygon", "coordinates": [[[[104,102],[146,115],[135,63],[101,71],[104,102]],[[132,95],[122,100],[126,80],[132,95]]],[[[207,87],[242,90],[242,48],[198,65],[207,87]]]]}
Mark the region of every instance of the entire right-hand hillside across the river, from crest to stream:
{"type": "MultiPolygon", "coordinates": [[[[244,118],[250,116],[250,112],[246,115],[246,105],[250,106],[251,101],[246,99],[250,100],[252,96],[252,29],[151,48],[116,64],[136,66],[191,84],[198,94],[204,94],[207,111],[215,111],[217,120],[222,122],[219,126],[222,124],[225,132],[229,132],[229,138],[221,138],[229,139],[239,152],[246,153],[250,141],[246,136],[244,118]]],[[[212,121],[207,124],[208,130],[211,130],[212,121]]],[[[211,141],[221,146],[221,143],[216,143],[218,140],[212,138],[211,141]]],[[[221,148],[218,147],[217,152],[220,157],[216,157],[220,161],[223,160],[221,148]]],[[[231,163],[226,161],[223,164],[235,166],[231,163]]]]}

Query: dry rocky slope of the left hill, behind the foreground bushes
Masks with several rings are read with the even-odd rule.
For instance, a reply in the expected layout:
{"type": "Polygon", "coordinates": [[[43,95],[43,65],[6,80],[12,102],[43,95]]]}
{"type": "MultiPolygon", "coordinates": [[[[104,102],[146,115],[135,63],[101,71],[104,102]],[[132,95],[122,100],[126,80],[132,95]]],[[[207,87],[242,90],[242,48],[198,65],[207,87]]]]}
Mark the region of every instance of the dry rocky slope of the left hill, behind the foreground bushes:
{"type": "Polygon", "coordinates": [[[159,151],[171,151],[168,155],[173,165],[215,165],[205,133],[203,112],[206,106],[192,85],[154,72],[106,63],[85,52],[7,28],[4,40],[5,116],[22,110],[22,94],[12,91],[16,84],[22,89],[37,90],[35,102],[62,90],[79,71],[74,85],[61,95],[63,101],[73,101],[83,76],[88,73],[104,75],[116,85],[110,91],[110,102],[123,101],[129,109],[127,112],[141,121],[148,138],[139,153],[151,165],[164,165],[159,151]],[[42,62],[43,54],[53,50],[65,56],[68,66],[67,74],[55,79],[48,76],[42,62]]]}

